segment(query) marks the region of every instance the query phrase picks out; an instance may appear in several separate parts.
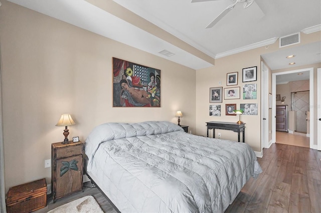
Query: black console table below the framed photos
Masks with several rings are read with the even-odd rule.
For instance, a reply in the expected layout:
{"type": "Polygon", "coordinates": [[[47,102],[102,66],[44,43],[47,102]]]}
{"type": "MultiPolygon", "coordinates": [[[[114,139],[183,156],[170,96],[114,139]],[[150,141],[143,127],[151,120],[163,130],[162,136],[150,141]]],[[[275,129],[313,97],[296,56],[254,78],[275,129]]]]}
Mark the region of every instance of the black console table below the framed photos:
{"type": "Polygon", "coordinates": [[[227,129],[238,133],[238,141],[240,142],[240,132],[243,131],[243,142],[245,142],[245,123],[237,124],[233,122],[209,121],[207,125],[207,137],[209,137],[209,129],[213,129],[213,137],[215,138],[215,129],[227,129]]]}

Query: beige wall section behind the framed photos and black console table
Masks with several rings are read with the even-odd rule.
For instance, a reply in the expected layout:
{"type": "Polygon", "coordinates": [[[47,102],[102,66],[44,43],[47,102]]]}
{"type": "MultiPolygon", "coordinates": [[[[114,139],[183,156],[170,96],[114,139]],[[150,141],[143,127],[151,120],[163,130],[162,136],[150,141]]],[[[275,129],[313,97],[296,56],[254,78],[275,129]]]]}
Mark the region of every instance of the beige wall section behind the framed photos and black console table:
{"type": "MultiPolygon", "coordinates": [[[[253,150],[260,151],[261,139],[260,139],[260,116],[261,116],[261,65],[260,65],[260,54],[255,50],[247,51],[247,53],[239,53],[226,57],[216,59],[215,66],[197,70],[196,72],[196,126],[197,133],[206,136],[206,121],[238,121],[238,116],[225,115],[225,104],[236,103],[237,109],[240,108],[240,103],[257,103],[258,104],[258,115],[241,115],[241,120],[246,124],[245,140],[253,150]],[[242,68],[257,66],[257,81],[242,82],[242,68]],[[221,116],[210,116],[209,115],[209,90],[210,87],[222,86],[223,89],[226,87],[235,87],[226,85],[226,77],[229,72],[238,72],[238,85],[240,91],[243,91],[243,85],[249,83],[257,84],[257,99],[243,100],[243,94],[240,95],[240,99],[224,99],[221,104],[221,116]],[[219,84],[222,82],[222,85],[219,84]]],[[[210,131],[212,133],[212,130],[210,131]]],[[[237,133],[230,130],[218,129],[215,131],[215,137],[218,137],[218,132],[221,133],[221,138],[231,139],[237,141],[237,133]]],[[[213,133],[212,133],[213,134],[213,133]]]]}

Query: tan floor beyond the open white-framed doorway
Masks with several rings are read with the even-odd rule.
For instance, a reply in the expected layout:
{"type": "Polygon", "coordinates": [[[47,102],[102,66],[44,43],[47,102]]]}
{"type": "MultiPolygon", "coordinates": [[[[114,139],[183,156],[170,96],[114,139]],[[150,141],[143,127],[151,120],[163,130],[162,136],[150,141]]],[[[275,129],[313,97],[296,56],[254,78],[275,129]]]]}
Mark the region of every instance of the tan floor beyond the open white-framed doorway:
{"type": "Polygon", "coordinates": [[[301,147],[310,147],[310,138],[300,135],[291,134],[285,131],[276,131],[276,143],[282,143],[287,145],[296,145],[301,147]]]}

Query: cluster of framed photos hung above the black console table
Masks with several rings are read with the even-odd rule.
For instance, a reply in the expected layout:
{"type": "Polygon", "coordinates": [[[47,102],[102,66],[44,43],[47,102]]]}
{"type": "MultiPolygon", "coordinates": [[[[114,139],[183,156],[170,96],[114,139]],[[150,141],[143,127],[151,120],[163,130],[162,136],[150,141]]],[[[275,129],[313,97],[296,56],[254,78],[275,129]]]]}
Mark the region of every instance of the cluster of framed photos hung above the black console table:
{"type": "Polygon", "coordinates": [[[257,83],[255,81],[257,81],[257,66],[243,68],[240,72],[227,73],[226,86],[210,88],[210,116],[236,115],[234,110],[242,110],[243,115],[257,115],[257,83]],[[239,83],[239,76],[242,78],[242,83],[239,83]],[[236,99],[244,101],[237,101],[240,102],[237,104],[236,101],[233,102],[236,99]],[[225,113],[222,110],[225,110],[225,113]]]}

